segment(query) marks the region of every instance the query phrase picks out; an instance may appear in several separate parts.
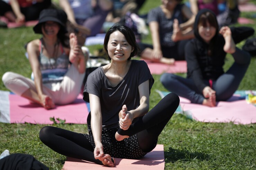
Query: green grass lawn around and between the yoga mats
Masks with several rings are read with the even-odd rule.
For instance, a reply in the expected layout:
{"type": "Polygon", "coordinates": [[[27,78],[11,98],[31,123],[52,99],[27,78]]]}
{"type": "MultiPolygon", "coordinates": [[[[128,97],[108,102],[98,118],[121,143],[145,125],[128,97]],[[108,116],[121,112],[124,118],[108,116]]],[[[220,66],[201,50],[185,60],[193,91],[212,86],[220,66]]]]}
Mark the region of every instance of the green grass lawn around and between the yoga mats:
{"type": "MultiPolygon", "coordinates": [[[[256,0],[252,2],[256,3],[256,0]]],[[[140,13],[146,13],[150,8],[160,4],[160,0],[147,0],[140,13]]],[[[243,12],[241,16],[252,18],[251,12],[243,12]]],[[[240,26],[236,24],[236,26],[240,26]]],[[[247,25],[256,29],[256,25],[247,25]]],[[[20,73],[30,77],[31,69],[24,53],[24,45],[30,40],[39,38],[32,28],[3,29],[0,28],[0,77],[6,71],[20,73]]],[[[256,37],[256,34],[254,34],[256,37]]],[[[151,42],[151,37],[145,37],[144,42],[151,42]]],[[[245,41],[238,44],[242,47],[245,41]]],[[[89,47],[91,51],[101,46],[89,47]]],[[[227,56],[225,70],[234,62],[227,56]]],[[[239,89],[256,88],[256,58],[253,57],[248,71],[239,89]]],[[[185,76],[185,74],[180,74],[185,76]]],[[[155,83],[150,94],[150,109],[161,100],[158,90],[166,90],[160,75],[153,75],[155,83]]],[[[7,90],[0,80],[0,90],[7,90]]],[[[243,114],[243,113],[241,113],[243,114]]],[[[39,139],[42,127],[39,124],[7,124],[0,123],[0,153],[8,149],[10,153],[26,153],[33,155],[50,169],[62,169],[65,156],[48,147],[39,139]]],[[[84,124],[55,124],[54,126],[67,130],[86,133],[84,124]]],[[[256,125],[237,125],[231,123],[202,123],[186,119],[180,114],[174,114],[164,131],[159,136],[158,144],[164,144],[165,169],[256,169],[256,125]]],[[[68,147],[68,146],[67,146],[68,147]]]]}

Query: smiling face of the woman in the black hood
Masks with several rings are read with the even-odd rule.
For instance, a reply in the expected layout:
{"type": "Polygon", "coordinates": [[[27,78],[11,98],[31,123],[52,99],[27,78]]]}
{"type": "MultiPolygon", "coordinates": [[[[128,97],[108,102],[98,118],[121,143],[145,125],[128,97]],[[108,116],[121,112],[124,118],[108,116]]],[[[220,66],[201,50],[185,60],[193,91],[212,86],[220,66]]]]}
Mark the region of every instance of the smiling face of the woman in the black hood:
{"type": "Polygon", "coordinates": [[[211,26],[210,23],[206,21],[205,26],[202,24],[198,25],[198,33],[205,42],[209,43],[216,34],[216,28],[211,26]]]}

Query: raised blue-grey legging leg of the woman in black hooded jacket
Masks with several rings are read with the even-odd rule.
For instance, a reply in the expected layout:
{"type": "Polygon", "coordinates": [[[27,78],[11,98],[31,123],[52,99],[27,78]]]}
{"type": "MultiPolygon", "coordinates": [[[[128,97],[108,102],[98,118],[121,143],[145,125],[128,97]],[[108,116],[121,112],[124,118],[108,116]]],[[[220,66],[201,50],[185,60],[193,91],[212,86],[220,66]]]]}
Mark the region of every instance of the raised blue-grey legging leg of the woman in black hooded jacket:
{"type": "Polygon", "coordinates": [[[234,94],[250,64],[250,54],[248,52],[236,48],[236,52],[232,56],[235,59],[233,65],[213,84],[217,101],[226,101],[234,94]]]}

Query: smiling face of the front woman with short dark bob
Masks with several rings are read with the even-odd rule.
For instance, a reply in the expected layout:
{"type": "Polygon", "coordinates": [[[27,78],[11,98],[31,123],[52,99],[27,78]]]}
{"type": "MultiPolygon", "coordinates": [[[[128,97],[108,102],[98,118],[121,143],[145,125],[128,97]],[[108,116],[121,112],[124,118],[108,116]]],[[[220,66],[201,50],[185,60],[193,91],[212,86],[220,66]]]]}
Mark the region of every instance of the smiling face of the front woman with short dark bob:
{"type": "Polygon", "coordinates": [[[134,50],[120,31],[110,34],[107,47],[112,61],[127,61],[134,50]]]}

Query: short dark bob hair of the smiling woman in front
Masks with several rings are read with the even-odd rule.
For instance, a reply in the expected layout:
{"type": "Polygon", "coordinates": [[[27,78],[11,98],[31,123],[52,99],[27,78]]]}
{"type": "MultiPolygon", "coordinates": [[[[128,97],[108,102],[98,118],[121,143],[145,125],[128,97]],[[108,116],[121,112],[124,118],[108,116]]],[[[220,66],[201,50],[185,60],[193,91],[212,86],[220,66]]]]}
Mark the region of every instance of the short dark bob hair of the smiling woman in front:
{"type": "MultiPolygon", "coordinates": [[[[130,57],[128,58],[128,60],[130,60],[131,57],[136,56],[140,52],[140,48],[139,48],[139,46],[138,46],[138,44],[136,42],[136,38],[135,38],[134,32],[129,27],[126,27],[126,26],[121,25],[119,23],[114,24],[108,30],[108,32],[106,33],[106,36],[105,36],[105,39],[104,39],[104,49],[105,49],[105,51],[108,53],[109,37],[115,31],[121,32],[125,36],[127,42],[131,45],[131,47],[134,48],[134,50],[130,54],[130,57]]],[[[111,60],[111,58],[109,56],[108,56],[108,59],[111,60]]]]}

